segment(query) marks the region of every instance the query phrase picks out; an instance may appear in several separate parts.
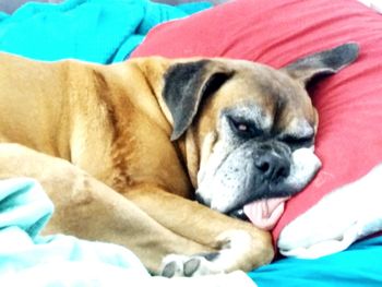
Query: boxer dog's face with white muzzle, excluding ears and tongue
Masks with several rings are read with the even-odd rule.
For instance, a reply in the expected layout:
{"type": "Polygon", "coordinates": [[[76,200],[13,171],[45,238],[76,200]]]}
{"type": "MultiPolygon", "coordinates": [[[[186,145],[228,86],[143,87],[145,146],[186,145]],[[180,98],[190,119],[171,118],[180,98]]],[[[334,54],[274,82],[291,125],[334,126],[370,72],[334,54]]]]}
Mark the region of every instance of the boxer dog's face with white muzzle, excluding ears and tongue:
{"type": "Polygon", "coordinates": [[[237,65],[195,122],[203,134],[196,199],[223,213],[291,195],[320,167],[318,116],[305,87],[267,67],[237,65]]]}

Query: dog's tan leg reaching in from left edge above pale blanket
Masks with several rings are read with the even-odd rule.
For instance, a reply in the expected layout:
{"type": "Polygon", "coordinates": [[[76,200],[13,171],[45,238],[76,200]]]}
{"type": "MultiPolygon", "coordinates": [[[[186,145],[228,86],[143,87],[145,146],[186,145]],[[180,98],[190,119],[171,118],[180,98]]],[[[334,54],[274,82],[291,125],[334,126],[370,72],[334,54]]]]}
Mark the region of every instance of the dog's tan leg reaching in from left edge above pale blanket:
{"type": "Polygon", "coordinates": [[[0,144],[0,178],[37,179],[55,203],[45,234],[119,243],[157,273],[169,253],[212,251],[155,222],[121,194],[69,162],[17,144],[0,144]]]}

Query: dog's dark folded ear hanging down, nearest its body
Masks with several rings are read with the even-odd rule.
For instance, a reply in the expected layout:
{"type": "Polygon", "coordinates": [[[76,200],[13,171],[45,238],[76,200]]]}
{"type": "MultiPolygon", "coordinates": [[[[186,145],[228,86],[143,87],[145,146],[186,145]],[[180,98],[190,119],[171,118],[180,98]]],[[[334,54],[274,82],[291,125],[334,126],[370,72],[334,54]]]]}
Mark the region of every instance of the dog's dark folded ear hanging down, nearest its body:
{"type": "Polygon", "coordinates": [[[211,60],[177,63],[168,70],[163,98],[174,120],[171,141],[190,127],[202,99],[216,92],[231,74],[228,68],[211,60]]]}

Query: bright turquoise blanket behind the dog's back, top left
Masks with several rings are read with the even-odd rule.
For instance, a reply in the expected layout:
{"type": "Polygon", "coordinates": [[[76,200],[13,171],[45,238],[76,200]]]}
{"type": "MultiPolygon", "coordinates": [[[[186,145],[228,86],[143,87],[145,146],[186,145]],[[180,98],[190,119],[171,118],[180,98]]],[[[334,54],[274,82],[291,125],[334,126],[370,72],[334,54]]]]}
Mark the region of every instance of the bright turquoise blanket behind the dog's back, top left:
{"type": "Polygon", "coordinates": [[[207,2],[171,7],[148,0],[28,2],[12,15],[0,12],[0,51],[48,61],[118,62],[155,25],[210,7],[207,2]]]}

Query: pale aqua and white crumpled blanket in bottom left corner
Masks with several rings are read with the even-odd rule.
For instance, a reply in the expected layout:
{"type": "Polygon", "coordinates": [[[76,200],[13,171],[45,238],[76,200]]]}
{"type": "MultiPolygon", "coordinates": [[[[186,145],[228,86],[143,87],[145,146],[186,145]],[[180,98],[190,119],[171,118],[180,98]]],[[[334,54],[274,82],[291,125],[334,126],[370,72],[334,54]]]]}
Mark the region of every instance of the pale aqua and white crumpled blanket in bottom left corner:
{"type": "Polygon", "coordinates": [[[150,277],[129,250],[41,237],[53,206],[32,179],[0,180],[0,286],[131,286],[150,277]]]}

